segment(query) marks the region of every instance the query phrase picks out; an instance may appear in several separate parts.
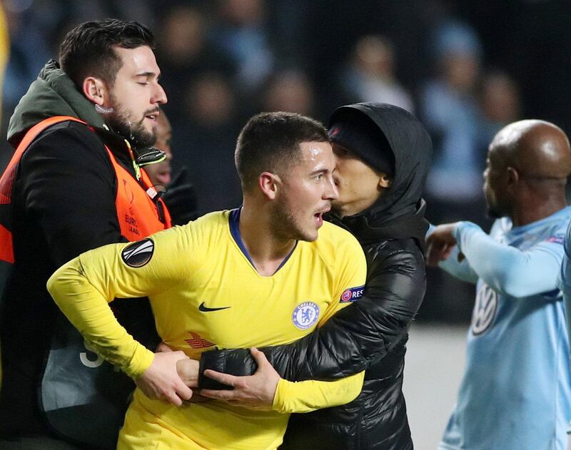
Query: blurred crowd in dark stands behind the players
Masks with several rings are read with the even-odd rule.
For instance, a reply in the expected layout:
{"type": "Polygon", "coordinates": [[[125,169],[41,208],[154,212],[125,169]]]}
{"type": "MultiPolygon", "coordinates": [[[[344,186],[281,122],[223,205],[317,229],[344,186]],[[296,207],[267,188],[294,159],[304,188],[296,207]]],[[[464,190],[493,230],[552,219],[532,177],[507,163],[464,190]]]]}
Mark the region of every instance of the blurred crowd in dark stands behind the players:
{"type": "MultiPolygon", "coordinates": [[[[5,0],[10,37],[3,123],[73,26],[117,17],[156,35],[173,176],[186,167],[198,213],[241,203],[233,149],[258,111],[325,121],[337,106],[393,103],[434,143],[433,223],[484,227],[487,145],[505,124],[543,118],[569,132],[564,1],[5,0]]],[[[3,144],[0,166],[11,155],[3,144]]],[[[465,320],[473,287],[429,272],[420,317],[465,320]],[[439,278],[440,277],[440,278],[439,278]],[[463,298],[465,297],[465,300],[463,298]]]]}

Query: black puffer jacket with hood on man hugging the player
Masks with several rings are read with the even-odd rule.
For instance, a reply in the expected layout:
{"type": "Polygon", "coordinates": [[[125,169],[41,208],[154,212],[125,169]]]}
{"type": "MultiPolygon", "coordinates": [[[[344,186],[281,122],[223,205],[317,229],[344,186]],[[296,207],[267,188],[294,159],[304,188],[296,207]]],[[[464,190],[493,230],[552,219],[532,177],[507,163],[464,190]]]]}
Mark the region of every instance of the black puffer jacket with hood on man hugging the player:
{"type": "MultiPolygon", "coordinates": [[[[420,122],[395,106],[345,106],[331,121],[353,114],[373,120],[395,154],[395,180],[378,203],[342,220],[330,217],[363,245],[368,265],[365,295],[303,339],[262,350],[285,379],[336,379],[365,369],[365,382],[350,404],[293,414],[283,449],[413,448],[403,369],[408,327],[425,292],[428,223],[420,193],[432,145],[420,122]]],[[[221,350],[203,354],[201,373],[206,368],[252,374],[256,363],[247,350],[221,350]]],[[[201,377],[201,384],[211,380],[201,377]]]]}

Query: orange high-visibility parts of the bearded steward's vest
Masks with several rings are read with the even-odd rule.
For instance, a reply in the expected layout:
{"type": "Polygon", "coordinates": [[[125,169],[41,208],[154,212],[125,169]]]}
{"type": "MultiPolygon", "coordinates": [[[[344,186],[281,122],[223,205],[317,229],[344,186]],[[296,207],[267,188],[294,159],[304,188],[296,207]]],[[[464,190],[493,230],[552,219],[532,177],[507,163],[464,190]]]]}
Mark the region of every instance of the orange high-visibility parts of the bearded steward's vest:
{"type": "MultiPolygon", "coordinates": [[[[32,141],[46,128],[56,123],[74,121],[88,124],[71,116],[55,116],[47,118],[32,127],[16,148],[6,170],[0,178],[0,205],[9,205],[12,198],[12,188],[18,163],[32,141]]],[[[90,128],[91,129],[91,128],[90,128]]],[[[171,227],[171,215],[168,213],[163,200],[153,201],[156,195],[151,180],[144,170],[141,170],[141,186],[128,171],[123,168],[109,150],[108,153],[117,178],[117,194],[115,205],[121,235],[127,240],[139,240],[160,230],[171,227]]],[[[14,263],[14,247],[12,244],[11,225],[9,220],[0,222],[0,260],[14,263]]]]}

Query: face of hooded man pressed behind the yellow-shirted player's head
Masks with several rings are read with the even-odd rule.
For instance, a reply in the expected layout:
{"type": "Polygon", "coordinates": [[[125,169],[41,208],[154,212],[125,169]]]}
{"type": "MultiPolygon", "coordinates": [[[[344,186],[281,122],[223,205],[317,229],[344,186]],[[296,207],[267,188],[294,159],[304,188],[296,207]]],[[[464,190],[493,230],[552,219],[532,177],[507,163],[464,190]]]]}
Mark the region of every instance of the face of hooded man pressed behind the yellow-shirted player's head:
{"type": "Polygon", "coordinates": [[[342,145],[333,143],[333,153],[333,180],[339,190],[339,198],[333,200],[333,210],[344,217],[370,208],[389,187],[390,180],[342,145]]]}

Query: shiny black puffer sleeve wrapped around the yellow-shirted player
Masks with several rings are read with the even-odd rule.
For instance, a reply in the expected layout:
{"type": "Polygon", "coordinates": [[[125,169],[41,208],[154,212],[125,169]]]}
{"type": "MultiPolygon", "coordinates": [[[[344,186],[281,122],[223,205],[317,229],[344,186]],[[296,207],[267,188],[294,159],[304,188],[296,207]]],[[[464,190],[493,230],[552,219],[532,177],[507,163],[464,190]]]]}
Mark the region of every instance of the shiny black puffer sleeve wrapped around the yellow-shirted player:
{"type": "MultiPolygon", "coordinates": [[[[370,260],[371,255],[367,255],[370,260]]],[[[420,253],[395,252],[368,264],[365,296],[338,311],[323,327],[296,342],[264,347],[269,362],[282,378],[337,379],[367,369],[405,338],[423,300],[424,261],[420,253]]],[[[205,352],[199,387],[223,389],[203,376],[205,369],[244,376],[256,372],[248,349],[205,352]]]]}

